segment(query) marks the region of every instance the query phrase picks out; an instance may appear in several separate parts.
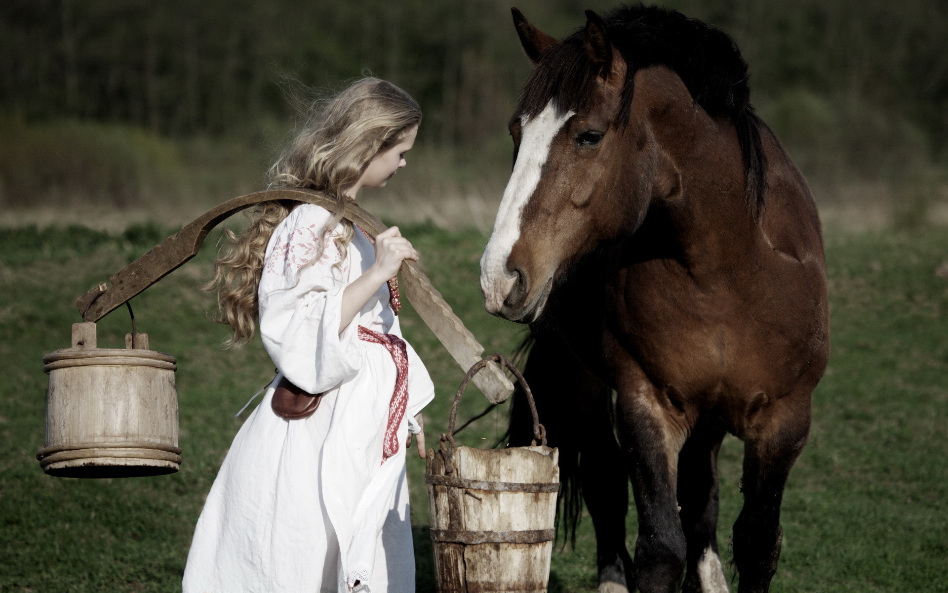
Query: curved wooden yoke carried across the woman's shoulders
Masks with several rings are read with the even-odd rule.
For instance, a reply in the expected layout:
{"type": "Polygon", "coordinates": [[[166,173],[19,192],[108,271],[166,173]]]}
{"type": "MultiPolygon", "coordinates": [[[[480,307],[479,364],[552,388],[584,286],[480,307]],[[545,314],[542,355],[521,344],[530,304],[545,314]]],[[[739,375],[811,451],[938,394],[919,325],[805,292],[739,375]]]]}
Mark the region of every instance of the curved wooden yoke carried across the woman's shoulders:
{"type": "MultiPolygon", "coordinates": [[[[89,290],[76,300],[76,306],[82,314],[82,321],[97,322],[118,306],[124,305],[145,288],[152,286],[188,260],[197,255],[201,244],[211,229],[223,222],[231,214],[262,202],[277,200],[295,200],[316,204],[333,211],[337,202],[332,197],[312,190],[268,190],[242,195],[220,204],[207,213],[201,214],[193,222],[168,237],[162,244],[145,253],[137,260],[119,270],[102,283],[89,290]],[[110,286],[111,283],[111,286],[110,286]]],[[[371,213],[366,212],[356,202],[346,203],[343,216],[362,227],[373,236],[387,228],[371,213]]],[[[411,306],[418,311],[425,324],[447,348],[454,360],[465,371],[483,357],[483,346],[467,330],[458,316],[454,314],[441,293],[431,285],[428,276],[417,262],[405,260],[400,269],[402,288],[411,306]]],[[[501,403],[510,397],[514,386],[504,377],[501,367],[491,362],[485,372],[474,377],[474,384],[491,403],[501,403]]]]}

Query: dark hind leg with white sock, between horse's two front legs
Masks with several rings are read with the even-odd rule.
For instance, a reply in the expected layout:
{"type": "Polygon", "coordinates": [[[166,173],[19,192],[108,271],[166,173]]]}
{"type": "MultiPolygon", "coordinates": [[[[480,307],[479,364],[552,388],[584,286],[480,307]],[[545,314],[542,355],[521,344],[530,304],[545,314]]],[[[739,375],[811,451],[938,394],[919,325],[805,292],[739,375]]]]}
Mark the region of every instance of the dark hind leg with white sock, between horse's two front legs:
{"type": "Polygon", "coordinates": [[[718,452],[725,430],[699,422],[678,455],[678,504],[688,544],[684,593],[726,593],[718,556],[718,452]]]}

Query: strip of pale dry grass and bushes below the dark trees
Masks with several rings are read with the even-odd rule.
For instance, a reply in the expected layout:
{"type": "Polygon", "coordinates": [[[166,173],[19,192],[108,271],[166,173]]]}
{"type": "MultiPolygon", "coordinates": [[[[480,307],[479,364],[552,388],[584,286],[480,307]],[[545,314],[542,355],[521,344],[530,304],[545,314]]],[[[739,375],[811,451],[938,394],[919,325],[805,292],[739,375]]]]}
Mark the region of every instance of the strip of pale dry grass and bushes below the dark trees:
{"type": "MultiPolygon", "coordinates": [[[[263,189],[267,163],[287,135],[276,126],[256,141],[166,139],[130,126],[0,119],[0,227],[180,227],[226,199],[263,189]]],[[[801,152],[800,162],[809,162],[808,155],[801,152]]],[[[363,192],[359,200],[385,220],[487,233],[509,158],[506,137],[479,150],[420,142],[389,187],[363,192]]],[[[948,176],[939,167],[917,163],[902,171],[900,182],[844,169],[837,176],[818,175],[819,167],[809,172],[828,227],[948,225],[948,176]]]]}

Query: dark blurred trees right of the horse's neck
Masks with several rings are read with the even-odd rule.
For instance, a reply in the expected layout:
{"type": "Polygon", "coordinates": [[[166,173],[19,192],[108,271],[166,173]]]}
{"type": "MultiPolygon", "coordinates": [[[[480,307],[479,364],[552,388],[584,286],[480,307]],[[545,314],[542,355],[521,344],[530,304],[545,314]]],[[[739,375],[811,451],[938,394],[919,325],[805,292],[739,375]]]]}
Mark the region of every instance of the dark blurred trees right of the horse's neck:
{"type": "Polygon", "coordinates": [[[761,115],[811,177],[904,181],[925,161],[948,163],[948,3],[674,5],[737,40],[761,115]]]}

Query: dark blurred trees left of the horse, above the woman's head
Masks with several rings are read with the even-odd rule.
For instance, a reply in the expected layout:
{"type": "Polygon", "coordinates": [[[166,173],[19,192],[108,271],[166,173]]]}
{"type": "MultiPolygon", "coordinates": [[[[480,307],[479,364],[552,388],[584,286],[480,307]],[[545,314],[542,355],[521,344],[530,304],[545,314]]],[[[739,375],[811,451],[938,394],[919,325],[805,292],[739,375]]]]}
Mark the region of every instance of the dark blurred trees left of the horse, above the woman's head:
{"type": "Polygon", "coordinates": [[[13,0],[0,107],[219,134],[283,118],[282,73],[319,87],[369,71],[422,103],[429,138],[477,143],[527,72],[509,20],[497,0],[13,0]]]}

